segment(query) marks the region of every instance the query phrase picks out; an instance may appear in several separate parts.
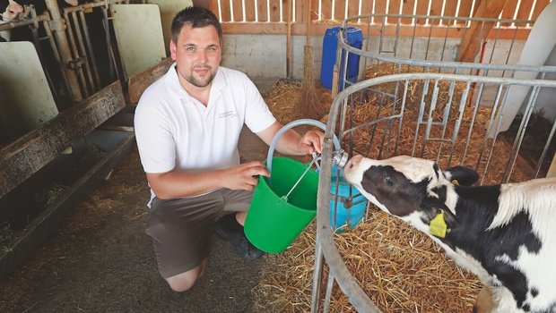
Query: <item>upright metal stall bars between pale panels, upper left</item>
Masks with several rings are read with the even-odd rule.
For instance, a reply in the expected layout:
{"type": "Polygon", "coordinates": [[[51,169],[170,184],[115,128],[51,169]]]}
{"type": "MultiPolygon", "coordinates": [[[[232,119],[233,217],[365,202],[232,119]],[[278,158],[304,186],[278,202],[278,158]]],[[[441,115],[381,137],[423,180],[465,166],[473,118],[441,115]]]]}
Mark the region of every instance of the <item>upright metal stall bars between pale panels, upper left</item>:
{"type": "MultiPolygon", "coordinates": [[[[80,4],[65,7],[62,10],[57,5],[56,0],[47,0],[47,9],[44,13],[37,14],[34,5],[25,5],[30,12],[30,16],[19,21],[7,21],[0,24],[0,31],[13,30],[24,26],[29,26],[33,34],[33,44],[37,49],[41,63],[45,60],[41,52],[40,41],[48,40],[52,53],[60,69],[63,88],[71,101],[78,103],[86,97],[90,97],[95,92],[102,89],[100,81],[99,65],[97,57],[93,52],[91,44],[90,30],[85,19],[85,12],[93,8],[100,7],[103,12],[104,36],[108,47],[110,58],[110,82],[123,80],[122,74],[118,72],[121,68],[121,61],[117,59],[114,52],[112,38],[110,34],[109,16],[110,4],[129,4],[129,0],[103,0],[94,3],[80,4]],[[39,38],[39,27],[45,30],[45,37],[39,38]]],[[[45,70],[48,78],[48,85],[56,99],[56,104],[65,109],[72,104],[64,104],[60,101],[56,89],[50,80],[50,74],[45,70]]]]}

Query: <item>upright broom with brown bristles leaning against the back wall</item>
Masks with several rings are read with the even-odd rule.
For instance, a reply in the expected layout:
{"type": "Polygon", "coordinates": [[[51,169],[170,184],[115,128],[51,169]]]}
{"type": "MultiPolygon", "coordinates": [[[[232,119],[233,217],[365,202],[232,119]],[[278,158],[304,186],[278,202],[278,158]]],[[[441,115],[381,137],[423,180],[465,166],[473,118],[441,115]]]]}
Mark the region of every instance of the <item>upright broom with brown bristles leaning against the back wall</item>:
{"type": "Polygon", "coordinates": [[[301,98],[298,108],[300,112],[307,118],[320,120],[326,114],[324,108],[320,105],[320,99],[315,90],[315,80],[313,80],[313,47],[310,41],[310,25],[311,25],[311,0],[308,1],[307,10],[307,43],[303,47],[303,80],[301,81],[301,98]]]}

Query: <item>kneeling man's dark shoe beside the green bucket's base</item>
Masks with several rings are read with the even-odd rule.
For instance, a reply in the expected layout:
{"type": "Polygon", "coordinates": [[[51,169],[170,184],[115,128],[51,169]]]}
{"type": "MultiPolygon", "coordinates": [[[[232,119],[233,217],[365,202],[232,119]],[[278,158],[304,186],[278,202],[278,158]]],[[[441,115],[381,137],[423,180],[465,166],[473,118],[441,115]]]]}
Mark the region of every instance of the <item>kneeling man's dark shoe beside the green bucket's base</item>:
{"type": "Polygon", "coordinates": [[[222,239],[230,241],[231,247],[241,258],[260,258],[265,254],[248,241],[243,232],[243,226],[236,221],[236,216],[233,214],[223,216],[218,220],[214,225],[214,231],[222,239]]]}

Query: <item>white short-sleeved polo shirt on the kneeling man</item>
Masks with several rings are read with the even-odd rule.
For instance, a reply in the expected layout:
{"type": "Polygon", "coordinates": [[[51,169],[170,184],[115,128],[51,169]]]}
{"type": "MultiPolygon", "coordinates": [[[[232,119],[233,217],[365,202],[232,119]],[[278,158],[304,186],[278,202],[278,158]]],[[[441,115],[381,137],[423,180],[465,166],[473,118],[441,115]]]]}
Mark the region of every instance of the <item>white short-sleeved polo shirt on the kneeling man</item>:
{"type": "Polygon", "coordinates": [[[219,67],[207,106],[179,84],[176,63],[141,96],[135,137],[146,173],[207,171],[239,165],[245,123],[264,131],[276,119],[255,84],[242,72],[219,67]]]}

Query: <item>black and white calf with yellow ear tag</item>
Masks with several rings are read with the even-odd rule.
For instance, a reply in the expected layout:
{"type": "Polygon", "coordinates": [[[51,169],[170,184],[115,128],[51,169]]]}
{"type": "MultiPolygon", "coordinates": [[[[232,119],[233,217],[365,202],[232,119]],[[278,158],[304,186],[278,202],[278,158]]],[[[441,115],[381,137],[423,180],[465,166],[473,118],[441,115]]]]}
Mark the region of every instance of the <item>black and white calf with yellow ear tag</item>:
{"type": "Polygon", "coordinates": [[[486,287],[479,298],[491,294],[486,311],[556,312],[556,178],[465,186],[476,181],[473,170],[442,172],[433,161],[406,156],[352,157],[344,175],[477,275],[486,287]]]}

